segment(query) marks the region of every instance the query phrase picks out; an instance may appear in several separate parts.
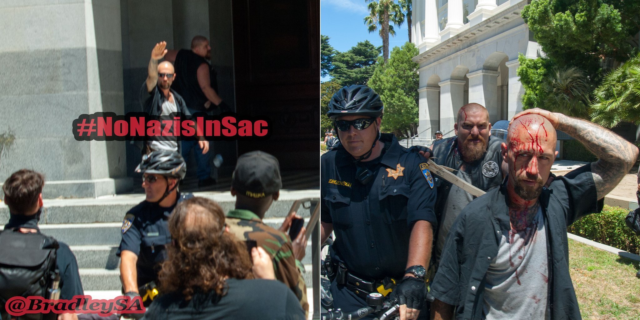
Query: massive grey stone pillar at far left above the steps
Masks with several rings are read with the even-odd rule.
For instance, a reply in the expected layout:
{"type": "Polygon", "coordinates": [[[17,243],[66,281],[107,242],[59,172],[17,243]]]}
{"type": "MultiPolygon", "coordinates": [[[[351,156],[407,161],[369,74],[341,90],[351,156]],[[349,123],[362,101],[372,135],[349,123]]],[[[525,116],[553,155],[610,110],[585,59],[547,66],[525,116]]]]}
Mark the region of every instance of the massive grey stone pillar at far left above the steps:
{"type": "Polygon", "coordinates": [[[131,189],[124,142],[76,141],[71,130],[81,114],[124,114],[120,14],[120,0],[0,3],[0,61],[12,75],[0,81],[0,134],[15,137],[0,177],[42,172],[45,198],[131,189]]]}

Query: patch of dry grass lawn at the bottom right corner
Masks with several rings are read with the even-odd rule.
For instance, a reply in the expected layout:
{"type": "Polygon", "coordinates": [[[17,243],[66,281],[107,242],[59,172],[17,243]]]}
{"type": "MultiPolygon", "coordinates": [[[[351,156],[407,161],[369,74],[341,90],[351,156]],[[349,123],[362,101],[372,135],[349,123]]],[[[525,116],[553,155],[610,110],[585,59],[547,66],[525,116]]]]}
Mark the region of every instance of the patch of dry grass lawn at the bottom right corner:
{"type": "Polygon", "coordinates": [[[569,267],[583,319],[640,320],[638,262],[569,239],[569,267]]]}

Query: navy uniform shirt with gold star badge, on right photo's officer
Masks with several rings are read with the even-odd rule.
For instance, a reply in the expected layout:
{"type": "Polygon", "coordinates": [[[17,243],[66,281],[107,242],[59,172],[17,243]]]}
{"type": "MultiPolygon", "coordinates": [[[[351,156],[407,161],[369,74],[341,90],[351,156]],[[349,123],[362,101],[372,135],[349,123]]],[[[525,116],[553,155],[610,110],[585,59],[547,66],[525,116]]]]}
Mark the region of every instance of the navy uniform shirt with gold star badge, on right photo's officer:
{"type": "Polygon", "coordinates": [[[436,227],[436,190],[431,174],[423,173],[424,157],[402,148],[393,134],[380,140],[383,154],[358,164],[373,173],[365,185],[355,179],[356,164],[344,147],[321,157],[321,221],[332,223],[335,259],[349,272],[401,278],[413,223],[436,227]]]}

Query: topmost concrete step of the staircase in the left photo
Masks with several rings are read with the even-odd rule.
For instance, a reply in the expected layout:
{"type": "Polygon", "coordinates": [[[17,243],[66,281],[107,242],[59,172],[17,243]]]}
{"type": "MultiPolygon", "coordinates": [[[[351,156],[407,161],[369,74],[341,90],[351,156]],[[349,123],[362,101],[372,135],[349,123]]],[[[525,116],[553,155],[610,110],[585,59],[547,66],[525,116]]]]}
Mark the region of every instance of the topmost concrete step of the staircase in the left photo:
{"type": "MultiPolygon", "coordinates": [[[[227,212],[234,209],[236,198],[230,192],[195,192],[195,196],[210,198],[227,212]]],[[[295,200],[301,198],[319,198],[319,190],[280,191],[280,198],[273,202],[265,218],[284,218],[295,200]]],[[[122,222],[122,218],[134,205],[145,200],[145,195],[117,195],[100,198],[81,199],[45,199],[40,224],[122,222]]],[[[308,209],[301,210],[303,216],[309,216],[308,209]]],[[[4,203],[0,204],[0,225],[9,220],[9,211],[4,203]]]]}

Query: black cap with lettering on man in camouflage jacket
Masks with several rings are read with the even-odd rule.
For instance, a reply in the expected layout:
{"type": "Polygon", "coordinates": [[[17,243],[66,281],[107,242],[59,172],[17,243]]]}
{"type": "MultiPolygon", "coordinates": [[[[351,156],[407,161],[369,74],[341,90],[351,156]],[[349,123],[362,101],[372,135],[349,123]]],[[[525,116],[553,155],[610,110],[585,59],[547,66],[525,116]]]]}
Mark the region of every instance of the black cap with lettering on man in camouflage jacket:
{"type": "Polygon", "coordinates": [[[238,157],[231,186],[250,198],[264,198],[280,191],[280,163],[266,152],[252,151],[238,157]]]}

